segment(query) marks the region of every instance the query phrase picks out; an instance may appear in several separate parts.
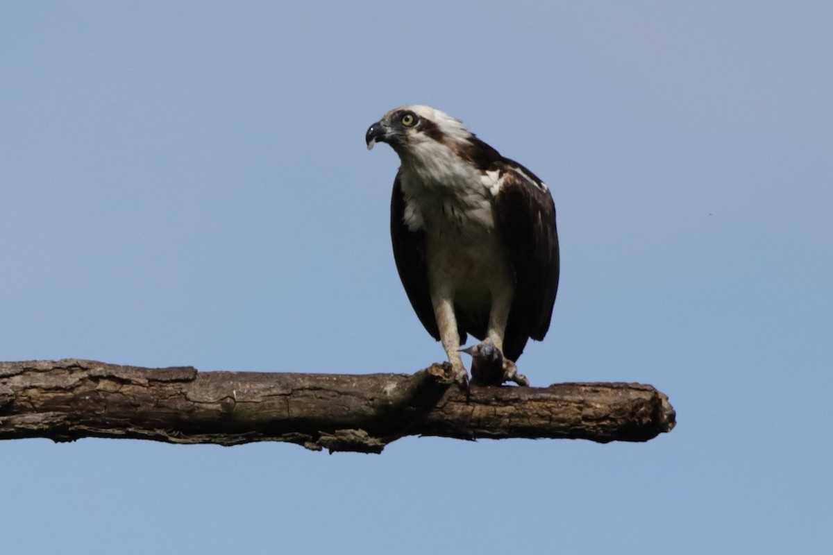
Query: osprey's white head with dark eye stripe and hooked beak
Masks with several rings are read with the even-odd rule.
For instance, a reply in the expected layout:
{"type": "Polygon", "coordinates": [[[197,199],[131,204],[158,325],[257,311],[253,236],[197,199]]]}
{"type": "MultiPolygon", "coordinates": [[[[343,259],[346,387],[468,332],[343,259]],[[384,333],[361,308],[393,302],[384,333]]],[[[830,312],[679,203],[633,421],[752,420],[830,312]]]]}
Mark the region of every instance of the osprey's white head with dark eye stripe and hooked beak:
{"type": "Polygon", "coordinates": [[[367,149],[377,142],[387,142],[402,158],[429,156],[430,151],[445,146],[462,146],[471,133],[460,120],[444,111],[427,106],[403,106],[387,112],[367,129],[367,149]]]}

